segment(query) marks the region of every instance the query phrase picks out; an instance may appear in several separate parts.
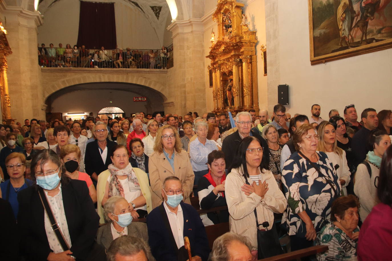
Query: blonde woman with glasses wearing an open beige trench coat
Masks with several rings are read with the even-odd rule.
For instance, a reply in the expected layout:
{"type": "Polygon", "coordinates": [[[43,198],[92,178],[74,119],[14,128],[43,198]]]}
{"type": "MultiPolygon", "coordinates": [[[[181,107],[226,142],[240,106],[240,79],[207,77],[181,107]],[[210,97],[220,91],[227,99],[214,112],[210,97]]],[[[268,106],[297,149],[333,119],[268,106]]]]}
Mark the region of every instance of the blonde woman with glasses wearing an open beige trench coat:
{"type": "Polygon", "coordinates": [[[149,158],[152,208],[162,204],[163,180],[176,176],[181,180],[184,202],[191,204],[189,197],[193,189],[194,173],[188,153],[181,148],[177,130],[170,125],[158,129],[154,152],[149,158]]]}

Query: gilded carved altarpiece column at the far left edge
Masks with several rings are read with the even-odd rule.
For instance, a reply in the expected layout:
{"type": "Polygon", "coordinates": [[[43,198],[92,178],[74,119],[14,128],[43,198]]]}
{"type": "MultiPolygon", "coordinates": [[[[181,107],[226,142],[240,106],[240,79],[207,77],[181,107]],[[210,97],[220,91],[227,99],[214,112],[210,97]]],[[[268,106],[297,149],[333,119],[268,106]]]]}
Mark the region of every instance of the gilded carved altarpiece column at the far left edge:
{"type": "Polygon", "coordinates": [[[11,118],[11,103],[9,101],[8,93],[8,81],[7,81],[7,55],[12,54],[11,48],[9,48],[7,37],[5,36],[7,31],[0,23],[0,100],[3,124],[11,124],[13,119],[11,118]]]}

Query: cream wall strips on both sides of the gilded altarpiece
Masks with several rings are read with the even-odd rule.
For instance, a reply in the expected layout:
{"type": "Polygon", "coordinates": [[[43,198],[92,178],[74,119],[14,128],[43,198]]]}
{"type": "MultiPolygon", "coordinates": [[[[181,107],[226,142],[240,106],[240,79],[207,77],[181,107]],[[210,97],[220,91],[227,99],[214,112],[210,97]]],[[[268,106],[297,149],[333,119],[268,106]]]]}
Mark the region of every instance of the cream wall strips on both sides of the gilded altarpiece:
{"type": "MultiPolygon", "coordinates": [[[[202,18],[204,23],[204,46],[205,56],[210,52],[211,46],[211,30],[213,29],[216,38],[218,37],[218,24],[212,21],[212,13],[216,10],[217,0],[205,0],[205,16],[202,18]]],[[[265,36],[265,8],[264,0],[242,0],[237,1],[243,3],[245,15],[248,16],[249,30],[256,31],[258,42],[256,44],[257,56],[257,86],[258,86],[258,99],[260,109],[267,108],[267,76],[264,76],[263,59],[261,59],[260,46],[266,44],[265,36]]],[[[268,53],[268,51],[267,51],[268,53]]],[[[211,59],[205,58],[206,67],[211,64],[211,59]]],[[[206,72],[207,68],[206,68],[206,72]]],[[[207,96],[207,112],[214,109],[212,100],[212,88],[209,88],[208,73],[205,76],[206,96],[207,96]]]]}

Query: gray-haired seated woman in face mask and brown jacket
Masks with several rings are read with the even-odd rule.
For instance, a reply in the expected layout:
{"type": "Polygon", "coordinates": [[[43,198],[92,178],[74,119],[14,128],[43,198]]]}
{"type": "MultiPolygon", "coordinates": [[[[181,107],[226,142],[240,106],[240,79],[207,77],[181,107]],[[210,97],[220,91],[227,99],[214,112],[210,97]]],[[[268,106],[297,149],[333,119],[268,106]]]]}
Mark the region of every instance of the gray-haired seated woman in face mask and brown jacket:
{"type": "Polygon", "coordinates": [[[131,209],[125,198],[112,196],[105,203],[103,211],[107,223],[98,229],[96,241],[106,250],[114,239],[124,235],[132,235],[148,242],[147,225],[132,222],[131,209]]]}

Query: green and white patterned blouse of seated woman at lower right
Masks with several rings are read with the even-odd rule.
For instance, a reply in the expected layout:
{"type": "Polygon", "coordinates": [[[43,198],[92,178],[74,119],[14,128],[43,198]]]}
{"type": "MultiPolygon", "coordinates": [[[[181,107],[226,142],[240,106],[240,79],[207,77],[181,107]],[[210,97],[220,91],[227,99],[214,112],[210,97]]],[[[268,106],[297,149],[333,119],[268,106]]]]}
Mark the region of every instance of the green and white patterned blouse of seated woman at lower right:
{"type": "MultiPolygon", "coordinates": [[[[357,226],[354,233],[359,231],[357,226]]],[[[339,229],[334,223],[325,225],[316,239],[316,245],[327,245],[328,250],[317,254],[317,260],[347,260],[356,261],[357,241],[352,240],[343,230],[339,229]]]]}

